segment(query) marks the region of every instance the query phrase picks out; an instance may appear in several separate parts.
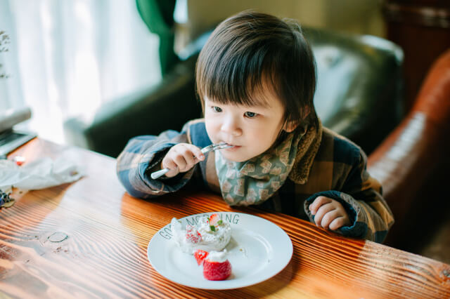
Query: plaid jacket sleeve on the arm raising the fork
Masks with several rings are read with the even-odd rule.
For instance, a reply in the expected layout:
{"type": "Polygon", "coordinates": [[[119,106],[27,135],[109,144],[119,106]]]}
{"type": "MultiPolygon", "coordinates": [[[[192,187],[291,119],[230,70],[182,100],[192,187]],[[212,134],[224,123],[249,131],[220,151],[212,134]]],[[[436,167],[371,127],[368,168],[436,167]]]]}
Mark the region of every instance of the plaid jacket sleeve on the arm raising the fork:
{"type": "Polygon", "coordinates": [[[176,192],[184,187],[192,178],[195,166],[174,178],[166,178],[163,175],[153,180],[150,177],[153,170],[159,169],[158,165],[169,149],[180,142],[188,142],[188,124],[181,133],[169,130],[158,136],[143,135],[131,138],[117,157],[117,177],[125,190],[133,197],[150,198],[176,192]]]}

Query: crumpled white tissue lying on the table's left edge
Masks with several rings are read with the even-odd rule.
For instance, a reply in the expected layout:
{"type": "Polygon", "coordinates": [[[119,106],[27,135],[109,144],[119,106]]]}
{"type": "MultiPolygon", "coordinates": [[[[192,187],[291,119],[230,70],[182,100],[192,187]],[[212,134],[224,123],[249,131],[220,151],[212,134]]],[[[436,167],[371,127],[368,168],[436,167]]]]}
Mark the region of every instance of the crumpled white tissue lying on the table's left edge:
{"type": "Polygon", "coordinates": [[[12,186],[21,190],[38,190],[74,182],[84,171],[73,161],[60,157],[53,160],[44,157],[18,166],[11,160],[0,160],[0,189],[11,191],[12,186]]]}

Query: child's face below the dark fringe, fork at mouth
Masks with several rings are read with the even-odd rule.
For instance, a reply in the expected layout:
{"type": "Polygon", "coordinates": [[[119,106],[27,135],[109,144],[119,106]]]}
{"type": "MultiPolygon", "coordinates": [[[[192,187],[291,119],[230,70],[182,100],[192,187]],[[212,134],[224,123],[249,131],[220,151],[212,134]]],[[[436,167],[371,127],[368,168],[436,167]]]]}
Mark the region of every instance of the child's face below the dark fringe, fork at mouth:
{"type": "Polygon", "coordinates": [[[274,144],[284,124],[285,109],[275,95],[266,95],[269,106],[219,104],[205,97],[205,124],[213,143],[234,145],[221,150],[225,159],[247,161],[274,144]]]}

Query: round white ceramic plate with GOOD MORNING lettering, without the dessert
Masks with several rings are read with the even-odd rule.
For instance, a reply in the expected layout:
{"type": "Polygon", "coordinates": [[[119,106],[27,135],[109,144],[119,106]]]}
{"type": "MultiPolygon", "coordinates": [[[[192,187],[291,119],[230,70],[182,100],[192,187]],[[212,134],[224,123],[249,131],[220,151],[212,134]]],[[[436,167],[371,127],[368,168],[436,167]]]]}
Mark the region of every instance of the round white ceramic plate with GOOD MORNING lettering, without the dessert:
{"type": "MultiPolygon", "coordinates": [[[[265,281],[288,265],[293,244],[280,227],[263,218],[233,212],[214,212],[231,225],[231,241],[226,246],[231,276],[223,281],[209,281],[193,255],[182,252],[171,239],[170,224],[162,227],[150,240],[148,260],[162,276],[184,286],[223,290],[242,288],[265,281]]],[[[197,223],[204,215],[181,218],[181,224],[197,223]]]]}

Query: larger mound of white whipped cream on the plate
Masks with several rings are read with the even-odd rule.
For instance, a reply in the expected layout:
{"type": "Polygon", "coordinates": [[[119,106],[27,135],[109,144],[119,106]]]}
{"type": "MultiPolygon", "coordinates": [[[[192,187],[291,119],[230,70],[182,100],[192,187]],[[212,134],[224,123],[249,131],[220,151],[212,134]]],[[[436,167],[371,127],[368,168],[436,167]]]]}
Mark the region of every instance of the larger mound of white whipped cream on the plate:
{"type": "Polygon", "coordinates": [[[221,251],[229,243],[231,239],[231,227],[229,223],[222,222],[221,225],[215,225],[215,231],[211,230],[210,223],[207,217],[200,219],[194,229],[197,230],[201,236],[201,241],[193,243],[186,238],[186,227],[181,227],[181,223],[172,218],[171,230],[175,244],[181,248],[181,251],[193,254],[198,249],[204,251],[221,251]]]}

